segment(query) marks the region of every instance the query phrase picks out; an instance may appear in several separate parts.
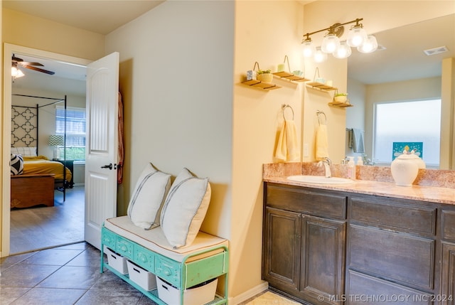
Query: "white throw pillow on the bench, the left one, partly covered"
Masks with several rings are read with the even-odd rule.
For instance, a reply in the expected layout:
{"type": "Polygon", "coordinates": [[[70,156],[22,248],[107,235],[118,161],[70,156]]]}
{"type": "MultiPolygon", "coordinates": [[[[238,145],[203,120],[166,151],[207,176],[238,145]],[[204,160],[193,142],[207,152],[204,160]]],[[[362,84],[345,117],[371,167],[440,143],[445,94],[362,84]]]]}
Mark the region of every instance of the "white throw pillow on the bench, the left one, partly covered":
{"type": "Polygon", "coordinates": [[[171,186],[171,175],[147,164],[137,180],[129,200],[128,216],[132,223],[146,230],[159,226],[161,209],[171,186]]]}

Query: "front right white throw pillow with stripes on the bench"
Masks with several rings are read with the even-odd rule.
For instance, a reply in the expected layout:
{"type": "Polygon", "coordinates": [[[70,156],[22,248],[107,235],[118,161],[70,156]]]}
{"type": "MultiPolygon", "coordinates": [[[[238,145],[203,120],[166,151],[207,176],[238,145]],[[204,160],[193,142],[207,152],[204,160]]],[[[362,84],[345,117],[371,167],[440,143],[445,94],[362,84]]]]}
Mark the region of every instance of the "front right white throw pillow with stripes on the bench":
{"type": "Polygon", "coordinates": [[[173,181],[161,213],[161,229],[176,249],[191,245],[205,218],[211,196],[208,178],[183,168],[173,181]]]}

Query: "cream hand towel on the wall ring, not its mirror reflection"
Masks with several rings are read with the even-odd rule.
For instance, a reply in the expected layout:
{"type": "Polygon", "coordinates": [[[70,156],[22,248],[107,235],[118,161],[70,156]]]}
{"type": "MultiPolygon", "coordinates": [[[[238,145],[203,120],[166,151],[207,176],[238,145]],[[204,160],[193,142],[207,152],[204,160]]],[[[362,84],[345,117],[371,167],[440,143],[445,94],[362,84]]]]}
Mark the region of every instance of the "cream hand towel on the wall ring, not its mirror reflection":
{"type": "Polygon", "coordinates": [[[275,148],[277,161],[299,161],[299,145],[297,141],[296,124],[292,120],[285,119],[279,132],[277,146],[275,148]]]}

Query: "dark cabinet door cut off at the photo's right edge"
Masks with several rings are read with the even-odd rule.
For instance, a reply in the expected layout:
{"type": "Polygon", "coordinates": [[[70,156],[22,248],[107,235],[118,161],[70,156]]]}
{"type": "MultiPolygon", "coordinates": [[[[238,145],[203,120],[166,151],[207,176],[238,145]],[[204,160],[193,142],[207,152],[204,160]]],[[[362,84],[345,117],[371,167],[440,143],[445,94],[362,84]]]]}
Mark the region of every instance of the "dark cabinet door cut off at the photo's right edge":
{"type": "Polygon", "coordinates": [[[455,245],[442,243],[441,303],[455,304],[455,245]]]}

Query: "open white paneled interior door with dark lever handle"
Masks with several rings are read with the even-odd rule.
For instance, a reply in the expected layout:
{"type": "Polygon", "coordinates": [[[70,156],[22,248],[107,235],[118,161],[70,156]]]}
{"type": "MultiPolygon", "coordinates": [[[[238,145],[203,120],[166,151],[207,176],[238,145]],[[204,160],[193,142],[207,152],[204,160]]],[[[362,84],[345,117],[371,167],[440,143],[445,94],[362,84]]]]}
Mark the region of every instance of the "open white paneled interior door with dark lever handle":
{"type": "Polygon", "coordinates": [[[100,249],[101,225],[117,215],[119,53],[87,65],[85,240],[100,249]]]}

